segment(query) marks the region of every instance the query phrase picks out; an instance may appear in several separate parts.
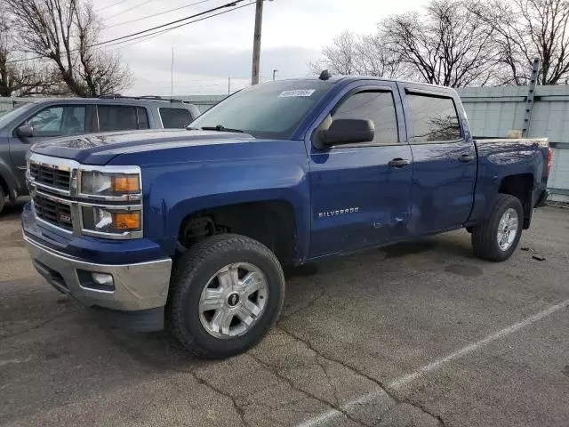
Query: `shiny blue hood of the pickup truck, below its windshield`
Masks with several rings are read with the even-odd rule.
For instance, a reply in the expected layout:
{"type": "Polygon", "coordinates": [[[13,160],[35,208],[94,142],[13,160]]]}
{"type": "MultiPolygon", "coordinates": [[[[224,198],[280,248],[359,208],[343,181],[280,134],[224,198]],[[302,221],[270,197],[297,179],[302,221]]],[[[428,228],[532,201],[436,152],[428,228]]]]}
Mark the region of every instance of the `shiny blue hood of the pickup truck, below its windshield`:
{"type": "Polygon", "coordinates": [[[252,141],[247,133],[187,129],[96,133],[38,142],[31,151],[76,160],[84,165],[105,165],[119,154],[252,141]]]}

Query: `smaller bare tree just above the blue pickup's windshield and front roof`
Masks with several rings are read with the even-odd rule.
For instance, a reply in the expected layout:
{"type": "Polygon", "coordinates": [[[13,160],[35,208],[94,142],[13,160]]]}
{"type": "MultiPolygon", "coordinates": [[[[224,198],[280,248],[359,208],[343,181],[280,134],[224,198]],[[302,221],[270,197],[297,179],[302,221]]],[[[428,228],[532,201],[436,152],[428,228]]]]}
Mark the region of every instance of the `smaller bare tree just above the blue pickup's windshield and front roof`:
{"type": "Polygon", "coordinates": [[[357,35],[348,30],[333,38],[322,50],[323,60],[311,64],[317,73],[323,68],[340,75],[405,77],[404,64],[385,48],[378,35],[357,35]]]}

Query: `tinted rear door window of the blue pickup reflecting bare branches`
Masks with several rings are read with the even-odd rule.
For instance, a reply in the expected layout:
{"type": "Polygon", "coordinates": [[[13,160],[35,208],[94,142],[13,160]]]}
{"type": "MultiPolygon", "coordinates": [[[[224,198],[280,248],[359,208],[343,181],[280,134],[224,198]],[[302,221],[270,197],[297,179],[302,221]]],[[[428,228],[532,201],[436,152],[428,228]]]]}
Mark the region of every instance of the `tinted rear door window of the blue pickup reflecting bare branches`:
{"type": "Polygon", "coordinates": [[[409,141],[455,141],[461,138],[461,124],[451,98],[407,93],[409,141]]]}

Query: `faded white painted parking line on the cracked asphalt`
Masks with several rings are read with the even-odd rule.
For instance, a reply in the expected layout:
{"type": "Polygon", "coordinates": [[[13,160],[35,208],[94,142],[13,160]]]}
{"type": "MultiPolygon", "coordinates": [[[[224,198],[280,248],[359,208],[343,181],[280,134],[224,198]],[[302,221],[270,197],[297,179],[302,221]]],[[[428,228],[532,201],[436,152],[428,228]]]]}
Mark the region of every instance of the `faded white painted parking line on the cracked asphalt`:
{"type": "MultiPolygon", "coordinates": [[[[397,378],[397,380],[392,381],[391,383],[387,384],[387,389],[389,390],[397,390],[408,383],[413,383],[413,381],[421,378],[421,376],[428,374],[429,372],[437,371],[441,367],[444,367],[447,363],[452,362],[455,359],[460,359],[462,356],[466,356],[467,354],[476,351],[486,345],[497,341],[509,334],[513,334],[518,330],[522,329],[525,326],[530,326],[533,323],[541,320],[542,318],[547,318],[551,314],[555,313],[556,311],[563,310],[569,307],[569,300],[565,300],[564,302],[559,302],[556,305],[549,307],[547,310],[540,311],[539,313],[534,314],[532,317],[525,318],[524,320],[518,322],[515,325],[505,327],[500,331],[489,334],[485,336],[480,341],[473,342],[472,344],[467,345],[466,347],[461,348],[461,350],[456,350],[453,353],[445,356],[444,358],[437,359],[429,365],[425,365],[424,367],[420,367],[416,371],[412,372],[411,374],[402,376],[397,378]]],[[[374,399],[381,398],[381,396],[385,393],[383,390],[372,391],[369,394],[365,394],[360,398],[351,400],[341,406],[342,411],[348,412],[351,407],[357,407],[359,405],[365,405],[366,403],[371,402],[374,399]]],[[[321,415],[317,415],[314,418],[310,418],[309,420],[305,421],[304,423],[298,424],[297,427],[316,427],[319,425],[325,425],[325,423],[331,422],[334,418],[340,417],[343,414],[341,411],[337,409],[330,409],[321,415]]]]}

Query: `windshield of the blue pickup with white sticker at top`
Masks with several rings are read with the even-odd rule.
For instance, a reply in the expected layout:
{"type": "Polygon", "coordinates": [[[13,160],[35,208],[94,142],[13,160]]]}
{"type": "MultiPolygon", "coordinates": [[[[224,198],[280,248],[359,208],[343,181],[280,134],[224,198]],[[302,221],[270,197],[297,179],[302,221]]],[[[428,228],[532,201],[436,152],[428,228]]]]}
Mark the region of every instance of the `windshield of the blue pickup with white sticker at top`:
{"type": "Polygon", "coordinates": [[[317,80],[289,80],[256,85],[230,96],[189,126],[250,133],[255,138],[287,140],[309,110],[333,86],[317,80]]]}

